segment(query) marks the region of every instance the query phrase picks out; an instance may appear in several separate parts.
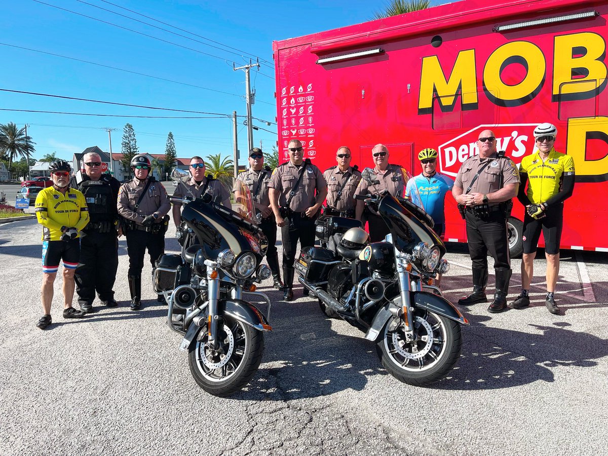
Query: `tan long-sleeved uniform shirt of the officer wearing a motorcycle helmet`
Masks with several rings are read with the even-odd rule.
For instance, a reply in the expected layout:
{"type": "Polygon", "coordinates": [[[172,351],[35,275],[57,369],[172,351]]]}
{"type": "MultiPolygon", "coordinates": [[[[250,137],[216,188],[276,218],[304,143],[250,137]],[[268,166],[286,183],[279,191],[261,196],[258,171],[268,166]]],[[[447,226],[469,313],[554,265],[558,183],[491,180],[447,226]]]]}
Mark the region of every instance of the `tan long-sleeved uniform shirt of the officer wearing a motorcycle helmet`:
{"type": "Polygon", "coordinates": [[[156,213],[158,219],[155,223],[161,223],[162,217],[167,215],[169,209],[171,209],[171,203],[167,197],[167,190],[161,184],[161,182],[151,182],[146,190],[146,195],[142,198],[142,202],[139,203],[137,209],[135,205],[139,196],[142,194],[143,187],[146,186],[147,179],[140,181],[137,178],[133,178],[129,182],[125,182],[120,186],[118,192],[117,209],[118,213],[124,218],[133,220],[138,225],[142,224],[142,221],[146,216],[156,213]]]}

